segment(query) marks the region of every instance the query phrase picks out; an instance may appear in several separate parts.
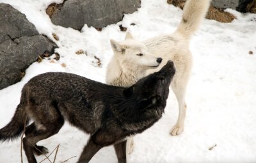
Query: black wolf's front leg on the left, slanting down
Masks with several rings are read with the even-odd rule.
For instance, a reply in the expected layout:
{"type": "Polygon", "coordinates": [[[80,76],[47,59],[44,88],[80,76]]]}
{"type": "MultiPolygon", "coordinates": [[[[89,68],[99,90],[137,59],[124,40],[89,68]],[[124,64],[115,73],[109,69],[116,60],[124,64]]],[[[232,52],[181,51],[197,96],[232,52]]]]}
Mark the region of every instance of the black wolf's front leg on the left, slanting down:
{"type": "Polygon", "coordinates": [[[84,150],[77,163],[89,162],[92,159],[93,155],[95,155],[97,151],[100,150],[100,148],[102,148],[102,146],[93,143],[92,139],[90,138],[86,146],[84,146],[84,150]]]}

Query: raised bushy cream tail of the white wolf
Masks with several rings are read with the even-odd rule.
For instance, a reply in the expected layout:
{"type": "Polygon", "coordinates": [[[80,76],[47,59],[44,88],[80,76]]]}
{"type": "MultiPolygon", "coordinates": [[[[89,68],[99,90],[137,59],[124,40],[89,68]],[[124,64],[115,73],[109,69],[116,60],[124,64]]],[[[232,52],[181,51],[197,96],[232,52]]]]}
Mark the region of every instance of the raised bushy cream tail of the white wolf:
{"type": "Polygon", "coordinates": [[[182,20],[175,33],[189,39],[199,28],[204,19],[211,0],[187,0],[183,8],[182,20]]]}

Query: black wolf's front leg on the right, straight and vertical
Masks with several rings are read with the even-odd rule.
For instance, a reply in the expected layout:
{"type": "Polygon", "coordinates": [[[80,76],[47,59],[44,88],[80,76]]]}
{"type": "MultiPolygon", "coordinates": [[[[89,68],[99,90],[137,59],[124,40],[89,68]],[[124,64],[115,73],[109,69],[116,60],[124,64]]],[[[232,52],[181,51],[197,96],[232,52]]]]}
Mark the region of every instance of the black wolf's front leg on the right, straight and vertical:
{"type": "Polygon", "coordinates": [[[127,140],[114,145],[118,163],[126,163],[127,162],[126,143],[127,143],[127,140]]]}

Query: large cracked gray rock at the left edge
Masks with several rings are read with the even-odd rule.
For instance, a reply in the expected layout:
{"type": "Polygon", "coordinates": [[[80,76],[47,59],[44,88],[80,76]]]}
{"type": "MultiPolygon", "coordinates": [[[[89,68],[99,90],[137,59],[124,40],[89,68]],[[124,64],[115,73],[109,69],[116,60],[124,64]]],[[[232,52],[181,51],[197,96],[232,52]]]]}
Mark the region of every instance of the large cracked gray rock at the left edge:
{"type": "Polygon", "coordinates": [[[0,3],[0,89],[20,81],[24,72],[38,55],[53,51],[55,43],[39,35],[26,15],[9,4],[0,3]]]}

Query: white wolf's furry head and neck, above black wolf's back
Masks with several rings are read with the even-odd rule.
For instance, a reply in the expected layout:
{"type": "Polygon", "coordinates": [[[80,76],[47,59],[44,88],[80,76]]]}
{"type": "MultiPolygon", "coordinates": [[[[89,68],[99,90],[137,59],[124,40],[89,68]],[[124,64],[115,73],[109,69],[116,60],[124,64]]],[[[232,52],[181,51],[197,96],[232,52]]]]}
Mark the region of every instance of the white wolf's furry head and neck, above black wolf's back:
{"type": "Polygon", "coordinates": [[[108,65],[107,84],[129,87],[145,77],[148,69],[159,66],[157,57],[153,56],[141,42],[131,39],[124,42],[114,40],[110,40],[110,42],[114,57],[108,65]],[[143,54],[143,56],[137,56],[138,54],[143,54]]]}

